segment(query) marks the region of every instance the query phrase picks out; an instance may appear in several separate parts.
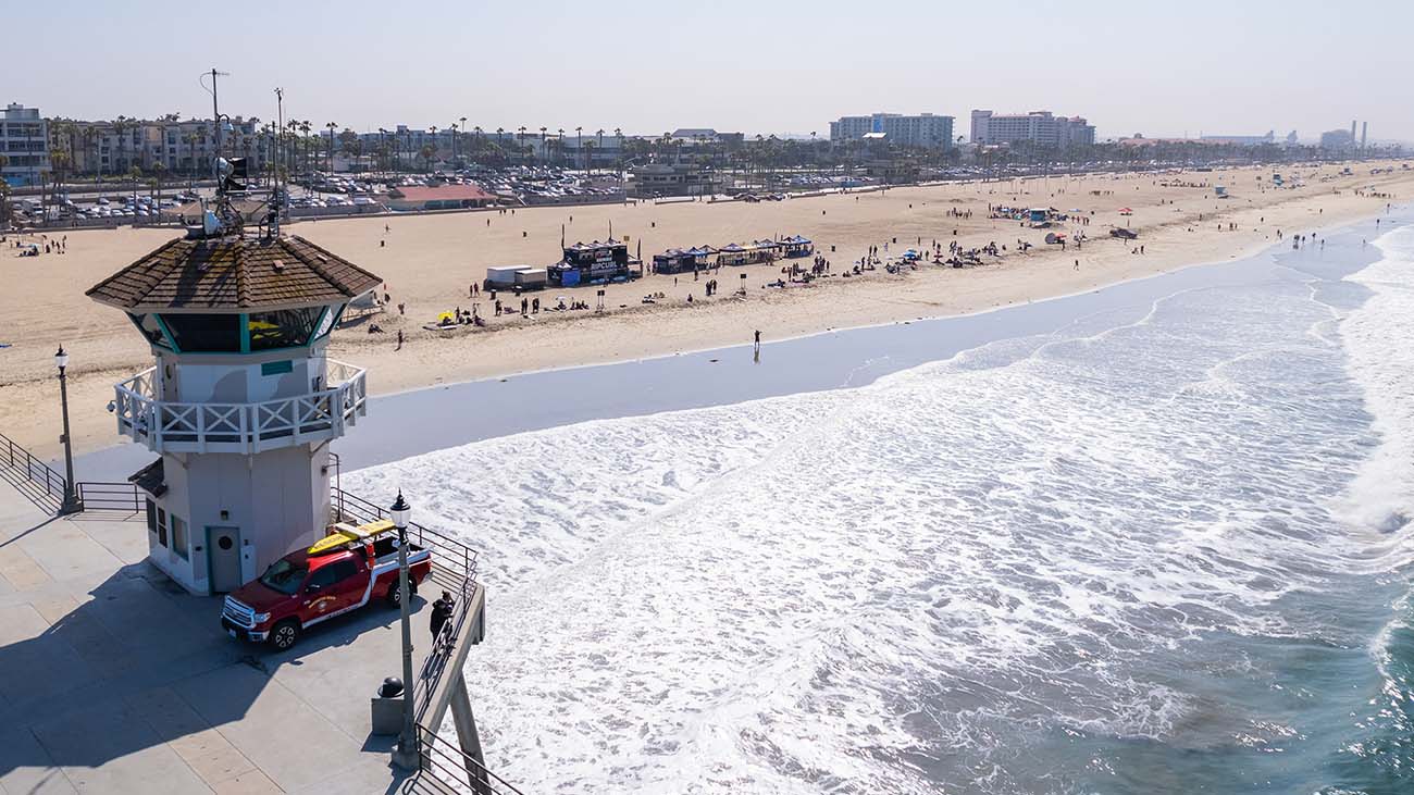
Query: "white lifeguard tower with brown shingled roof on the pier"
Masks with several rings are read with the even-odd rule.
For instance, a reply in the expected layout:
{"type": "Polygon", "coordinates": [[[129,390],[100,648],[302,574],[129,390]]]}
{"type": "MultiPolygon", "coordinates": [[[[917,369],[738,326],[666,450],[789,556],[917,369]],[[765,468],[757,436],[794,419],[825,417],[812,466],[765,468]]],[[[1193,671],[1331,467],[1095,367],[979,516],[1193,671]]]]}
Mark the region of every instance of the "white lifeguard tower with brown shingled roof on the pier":
{"type": "Polygon", "coordinates": [[[363,371],[325,348],[382,280],[277,225],[206,215],[88,296],[126,313],[156,358],[109,406],[158,455],[130,478],[147,495],[150,560],[218,594],[324,535],[329,443],[366,412],[363,371]]]}

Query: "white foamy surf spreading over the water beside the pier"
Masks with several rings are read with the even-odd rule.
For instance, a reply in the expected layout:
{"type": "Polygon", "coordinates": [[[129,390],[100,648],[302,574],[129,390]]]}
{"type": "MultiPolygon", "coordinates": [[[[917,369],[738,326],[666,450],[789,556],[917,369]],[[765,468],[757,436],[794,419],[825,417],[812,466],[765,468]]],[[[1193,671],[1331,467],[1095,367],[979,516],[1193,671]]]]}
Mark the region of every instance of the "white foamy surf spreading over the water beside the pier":
{"type": "Polygon", "coordinates": [[[1089,791],[1133,748],[1291,741],[1217,693],[1271,678],[1268,644],[1350,642],[1288,605],[1387,566],[1370,522],[1408,509],[1414,347],[1362,347],[1414,293],[1374,277],[1348,352],[1325,293],[1275,279],[345,481],[486,550],[468,682],[527,791],[1089,791]]]}

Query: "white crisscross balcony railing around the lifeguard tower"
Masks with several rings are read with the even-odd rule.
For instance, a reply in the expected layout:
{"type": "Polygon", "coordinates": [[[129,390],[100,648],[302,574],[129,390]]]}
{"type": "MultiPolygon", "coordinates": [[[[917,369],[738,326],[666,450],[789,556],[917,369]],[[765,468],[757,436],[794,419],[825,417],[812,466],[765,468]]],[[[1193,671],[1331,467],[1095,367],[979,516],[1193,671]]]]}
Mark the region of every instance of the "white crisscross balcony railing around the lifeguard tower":
{"type": "Polygon", "coordinates": [[[363,369],[329,361],[335,386],[256,403],[177,403],[157,396],[156,368],[113,388],[117,431],[154,453],[260,453],[344,434],[368,413],[363,369]]]}

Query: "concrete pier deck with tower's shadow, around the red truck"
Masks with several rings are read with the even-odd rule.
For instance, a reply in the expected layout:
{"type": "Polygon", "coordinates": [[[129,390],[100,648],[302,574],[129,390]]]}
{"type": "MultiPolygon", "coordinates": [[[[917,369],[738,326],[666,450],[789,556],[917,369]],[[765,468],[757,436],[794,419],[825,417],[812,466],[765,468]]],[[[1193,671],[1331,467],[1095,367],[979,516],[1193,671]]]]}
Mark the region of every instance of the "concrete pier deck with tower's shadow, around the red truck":
{"type": "Polygon", "coordinates": [[[271,654],[146,555],[140,516],[57,519],[0,484],[0,794],[420,789],[369,736],[369,697],[402,665],[396,613],[271,654]]]}

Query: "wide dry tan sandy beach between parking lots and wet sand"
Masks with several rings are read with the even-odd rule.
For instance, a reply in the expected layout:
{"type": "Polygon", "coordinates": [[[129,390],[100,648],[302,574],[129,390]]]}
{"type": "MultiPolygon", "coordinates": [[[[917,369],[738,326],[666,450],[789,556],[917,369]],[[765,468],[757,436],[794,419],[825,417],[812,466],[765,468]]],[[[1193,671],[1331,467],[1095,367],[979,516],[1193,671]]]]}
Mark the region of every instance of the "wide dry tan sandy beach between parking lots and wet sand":
{"type": "MultiPolygon", "coordinates": [[[[769,344],[831,328],[976,313],[1222,262],[1273,245],[1278,231],[1285,239],[1309,235],[1383,214],[1389,202],[1411,194],[1411,171],[1380,175],[1370,175],[1369,167],[1360,171],[1339,177],[1333,166],[1304,168],[1297,174],[1305,185],[1284,190],[1268,187],[1271,168],[1243,168],[947,184],[761,204],[550,207],[515,214],[362,218],[300,222],[287,229],[386,280],[392,307],[376,318],[386,334],[368,334],[362,325],[341,330],[329,354],[366,366],[372,390],[389,393],[745,344],[755,330],[769,344]],[[1227,185],[1233,198],[1215,198],[1215,184],[1227,185]],[[1380,195],[1369,195],[1372,191],[1380,195]],[[1046,231],[990,219],[988,205],[1079,209],[1090,224],[1062,231],[1070,235],[1085,231],[1089,239],[1080,250],[1046,246],[1042,242],[1046,231]],[[1121,215],[1121,208],[1133,209],[1133,215],[1121,215]],[[970,218],[953,215],[967,211],[970,218]],[[530,320],[519,314],[488,317],[488,328],[464,327],[451,332],[423,328],[443,311],[469,310],[468,289],[485,277],[488,266],[549,265],[560,255],[561,225],[566,240],[573,243],[607,238],[609,224],[617,238],[628,235],[631,249],[642,246],[645,260],[673,246],[805,235],[830,260],[834,276],[809,286],[766,289],[766,283],[781,277],[781,263],[724,267],[701,277],[721,283],[720,294],[706,298],[703,283],[691,274],[650,274],[608,287],[604,314],[543,311],[530,320]],[[1111,239],[1107,231],[1114,225],[1127,225],[1140,238],[1111,239]],[[945,252],[953,240],[963,248],[995,242],[1007,246],[1007,252],[978,267],[922,265],[901,274],[888,274],[881,267],[857,277],[839,276],[871,245],[889,257],[908,248],[930,248],[933,240],[945,252]],[[1018,240],[1035,248],[1018,253],[1018,240]],[[1144,253],[1134,253],[1140,245],[1144,253]],[[742,273],[745,280],[740,279],[742,273]],[[742,284],[747,297],[732,297],[742,284]],[[666,300],[641,303],[650,293],[663,293],[666,300]],[[399,314],[397,304],[403,304],[406,314],[399,314]],[[406,337],[402,349],[396,349],[397,331],[406,337]]],[[[1291,180],[1290,171],[1287,178],[1291,180]]],[[[0,297],[6,317],[0,344],[10,345],[0,348],[0,431],[41,455],[58,451],[52,354],[64,344],[72,355],[69,396],[76,450],[119,441],[112,417],[103,410],[112,399],[112,383],[144,369],[151,359],[130,324],[119,313],[90,303],[83,291],[171,236],[171,229],[72,232],[68,253],[35,259],[17,259],[13,249],[0,249],[10,276],[10,289],[0,297]]],[[[802,265],[809,262],[805,259],[802,265]]],[[[594,289],[539,293],[546,306],[559,296],[591,306],[595,301],[594,289]]],[[[478,310],[484,317],[492,315],[489,297],[479,298],[478,310]]]]}

